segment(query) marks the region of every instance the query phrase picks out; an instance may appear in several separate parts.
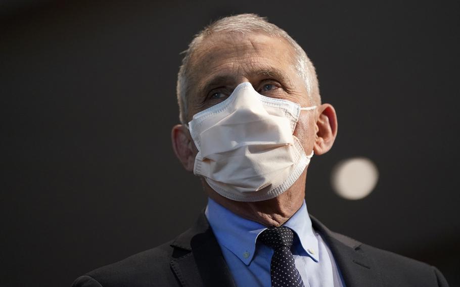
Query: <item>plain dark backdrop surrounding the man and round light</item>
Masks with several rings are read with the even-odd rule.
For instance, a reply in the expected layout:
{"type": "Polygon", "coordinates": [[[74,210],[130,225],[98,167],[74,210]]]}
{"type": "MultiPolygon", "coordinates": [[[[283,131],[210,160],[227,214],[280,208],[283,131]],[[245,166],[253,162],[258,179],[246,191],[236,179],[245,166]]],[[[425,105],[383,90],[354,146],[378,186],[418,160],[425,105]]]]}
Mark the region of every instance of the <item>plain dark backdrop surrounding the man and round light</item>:
{"type": "Polygon", "coordinates": [[[309,212],[460,286],[460,2],[0,3],[1,286],[70,285],[195,221],[206,198],[170,147],[179,52],[248,12],[304,47],[338,113],[333,150],[309,168],[309,212]],[[347,201],[330,173],[354,156],[380,180],[347,201]]]}

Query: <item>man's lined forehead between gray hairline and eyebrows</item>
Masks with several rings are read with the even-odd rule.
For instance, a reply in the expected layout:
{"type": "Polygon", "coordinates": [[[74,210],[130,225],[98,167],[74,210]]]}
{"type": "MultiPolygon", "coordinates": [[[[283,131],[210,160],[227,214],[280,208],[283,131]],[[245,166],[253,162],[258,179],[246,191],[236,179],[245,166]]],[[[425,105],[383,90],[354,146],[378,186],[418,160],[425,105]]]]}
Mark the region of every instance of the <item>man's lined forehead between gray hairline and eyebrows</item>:
{"type": "Polygon", "coordinates": [[[292,46],[283,38],[264,33],[209,35],[194,54],[190,77],[196,88],[238,74],[289,78],[294,63],[292,46]]]}

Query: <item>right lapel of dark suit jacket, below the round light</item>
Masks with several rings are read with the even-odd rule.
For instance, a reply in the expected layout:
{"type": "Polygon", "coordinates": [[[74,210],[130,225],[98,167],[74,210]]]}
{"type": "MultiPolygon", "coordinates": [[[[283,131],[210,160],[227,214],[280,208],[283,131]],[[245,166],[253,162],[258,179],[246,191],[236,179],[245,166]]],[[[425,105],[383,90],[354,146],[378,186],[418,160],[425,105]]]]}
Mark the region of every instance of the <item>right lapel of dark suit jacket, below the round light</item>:
{"type": "Polygon", "coordinates": [[[360,248],[361,243],[329,230],[310,215],[313,228],[321,234],[334,255],[346,287],[381,287],[379,270],[360,248]]]}

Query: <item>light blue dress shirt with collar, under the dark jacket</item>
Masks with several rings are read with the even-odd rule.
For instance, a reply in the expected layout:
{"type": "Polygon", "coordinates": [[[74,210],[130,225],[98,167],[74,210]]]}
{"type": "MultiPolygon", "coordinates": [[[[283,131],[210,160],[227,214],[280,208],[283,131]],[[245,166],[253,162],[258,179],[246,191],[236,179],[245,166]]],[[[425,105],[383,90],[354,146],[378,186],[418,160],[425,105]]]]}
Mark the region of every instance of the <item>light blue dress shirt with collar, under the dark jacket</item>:
{"type": "MultiPolygon", "coordinates": [[[[257,242],[267,227],[236,215],[212,199],[205,214],[237,286],[271,286],[273,250],[257,242]]],[[[283,226],[294,231],[291,250],[305,287],[345,287],[331,250],[311,226],[305,201],[283,226]]]]}

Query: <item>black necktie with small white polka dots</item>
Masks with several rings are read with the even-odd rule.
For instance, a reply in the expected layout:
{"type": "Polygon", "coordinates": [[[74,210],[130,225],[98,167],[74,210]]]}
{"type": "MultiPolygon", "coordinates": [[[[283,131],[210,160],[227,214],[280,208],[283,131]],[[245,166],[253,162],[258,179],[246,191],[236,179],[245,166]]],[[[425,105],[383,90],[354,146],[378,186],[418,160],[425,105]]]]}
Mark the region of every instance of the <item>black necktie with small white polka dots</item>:
{"type": "Polygon", "coordinates": [[[270,263],[271,285],[274,287],[304,287],[291,252],[293,238],[294,233],[288,227],[270,227],[258,237],[263,244],[274,250],[270,263]]]}

